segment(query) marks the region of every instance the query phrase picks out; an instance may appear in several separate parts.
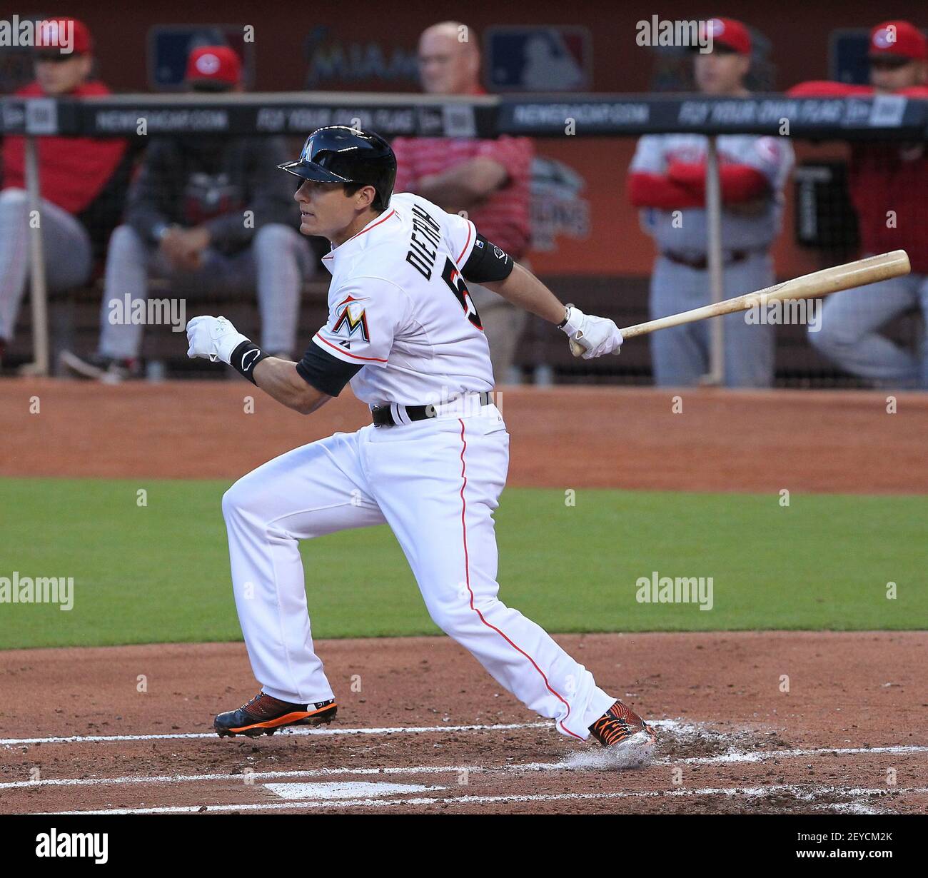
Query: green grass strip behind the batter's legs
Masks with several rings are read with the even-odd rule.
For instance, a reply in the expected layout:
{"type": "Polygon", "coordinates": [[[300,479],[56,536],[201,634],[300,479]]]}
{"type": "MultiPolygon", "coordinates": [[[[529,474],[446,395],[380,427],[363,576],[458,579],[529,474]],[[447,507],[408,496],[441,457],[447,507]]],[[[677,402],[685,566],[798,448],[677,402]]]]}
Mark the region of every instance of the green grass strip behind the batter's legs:
{"type": "MultiPolygon", "coordinates": [[[[0,648],[239,639],[219,482],[0,480],[0,576],[73,576],[74,606],[0,603],[0,648]],[[136,490],[148,506],[136,505],[136,490]]],[[[551,631],[928,626],[925,497],[508,488],[500,595],[551,631]],[[714,608],[636,580],[712,576],[714,608]],[[896,582],[896,600],[886,585],[896,582]]],[[[303,543],[317,638],[434,634],[386,526],[303,543]]]]}

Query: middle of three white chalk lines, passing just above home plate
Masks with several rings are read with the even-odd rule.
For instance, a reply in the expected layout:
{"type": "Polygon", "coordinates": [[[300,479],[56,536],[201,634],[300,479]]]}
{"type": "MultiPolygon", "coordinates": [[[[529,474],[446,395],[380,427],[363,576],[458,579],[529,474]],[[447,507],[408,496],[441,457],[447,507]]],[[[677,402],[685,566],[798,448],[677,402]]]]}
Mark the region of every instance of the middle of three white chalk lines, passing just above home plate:
{"type": "MultiPolygon", "coordinates": [[[[652,763],[658,765],[717,765],[719,763],[754,763],[768,759],[799,758],[802,756],[820,755],[862,755],[862,754],[895,754],[906,755],[923,753],[928,747],[898,746],[898,747],[822,747],[814,750],[766,750],[761,753],[730,753],[715,756],[689,756],[683,759],[664,757],[655,759],[652,763]]],[[[303,768],[288,771],[251,771],[243,769],[238,772],[223,772],[212,774],[159,774],[151,776],[124,775],[117,778],[46,778],[38,781],[6,781],[0,783],[0,790],[17,790],[26,787],[38,788],[44,786],[108,786],[117,784],[138,783],[195,783],[200,781],[241,781],[251,785],[255,781],[279,780],[281,778],[324,778],[343,774],[354,775],[395,775],[395,774],[512,774],[530,771],[583,771],[610,768],[608,755],[605,751],[596,750],[590,758],[583,758],[586,754],[568,756],[561,762],[524,762],[517,765],[500,766],[388,766],[385,768],[303,768]]]]}

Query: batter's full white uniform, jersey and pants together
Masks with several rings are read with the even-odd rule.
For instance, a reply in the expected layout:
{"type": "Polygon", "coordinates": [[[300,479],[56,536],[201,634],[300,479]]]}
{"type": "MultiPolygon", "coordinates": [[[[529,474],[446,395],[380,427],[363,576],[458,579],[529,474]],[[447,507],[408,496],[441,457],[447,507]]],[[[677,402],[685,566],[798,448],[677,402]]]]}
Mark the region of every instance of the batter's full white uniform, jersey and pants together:
{"type": "MultiPolygon", "coordinates": [[[[338,394],[357,368],[352,389],[368,404],[492,390],[489,348],[460,277],[474,247],[487,247],[475,239],[468,220],[394,195],[389,210],[325,257],[329,321],[300,374],[338,394]]],[[[306,607],[307,584],[325,571],[303,570],[298,541],[386,523],[432,621],[562,735],[589,737],[615,699],[498,598],[493,512],[508,469],[509,432],[491,401],[335,433],[239,479],[223,513],[238,618],[262,691],[288,704],[334,698],[306,607]]]]}

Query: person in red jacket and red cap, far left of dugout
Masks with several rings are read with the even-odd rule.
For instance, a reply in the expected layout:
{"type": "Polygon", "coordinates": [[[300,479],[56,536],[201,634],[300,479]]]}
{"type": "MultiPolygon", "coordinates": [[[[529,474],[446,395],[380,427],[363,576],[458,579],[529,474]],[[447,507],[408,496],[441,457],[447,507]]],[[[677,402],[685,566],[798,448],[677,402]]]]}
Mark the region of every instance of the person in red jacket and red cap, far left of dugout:
{"type": "MultiPolygon", "coordinates": [[[[16,97],[109,95],[97,79],[94,43],[78,19],[36,25],[35,79],[16,97]]],[[[50,291],[85,284],[119,222],[132,165],[122,137],[37,137],[45,282],[50,291]]],[[[0,192],[0,366],[13,340],[30,279],[29,199],[25,138],[3,139],[0,192]]]]}

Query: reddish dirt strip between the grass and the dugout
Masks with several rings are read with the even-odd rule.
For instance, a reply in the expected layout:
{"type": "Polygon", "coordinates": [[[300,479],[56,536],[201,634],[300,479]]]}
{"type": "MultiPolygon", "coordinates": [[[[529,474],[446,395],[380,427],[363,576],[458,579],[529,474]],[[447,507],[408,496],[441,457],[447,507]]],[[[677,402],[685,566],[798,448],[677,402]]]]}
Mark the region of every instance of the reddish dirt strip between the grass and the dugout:
{"type": "MultiPolygon", "coordinates": [[[[234,479],[369,420],[347,392],[304,418],[236,379],[2,381],[0,475],[234,479]]],[[[896,414],[853,392],[502,387],[497,405],[510,485],[928,492],[928,394],[898,394],[896,414]]]]}

